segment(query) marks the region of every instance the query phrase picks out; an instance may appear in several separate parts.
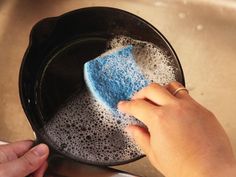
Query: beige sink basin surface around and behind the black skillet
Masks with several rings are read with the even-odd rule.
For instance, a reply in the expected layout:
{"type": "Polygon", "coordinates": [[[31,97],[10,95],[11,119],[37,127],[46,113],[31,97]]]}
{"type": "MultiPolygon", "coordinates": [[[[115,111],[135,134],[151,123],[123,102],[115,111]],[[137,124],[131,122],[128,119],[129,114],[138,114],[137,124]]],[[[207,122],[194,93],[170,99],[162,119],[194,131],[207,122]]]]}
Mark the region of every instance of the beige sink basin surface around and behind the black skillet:
{"type": "MultiPolygon", "coordinates": [[[[121,8],[160,30],[179,57],[190,94],[215,113],[236,152],[233,0],[1,0],[0,140],[34,139],[18,96],[18,72],[31,27],[42,18],[88,6],[121,8]]],[[[146,158],[115,168],[140,176],[162,176],[146,158]]]]}

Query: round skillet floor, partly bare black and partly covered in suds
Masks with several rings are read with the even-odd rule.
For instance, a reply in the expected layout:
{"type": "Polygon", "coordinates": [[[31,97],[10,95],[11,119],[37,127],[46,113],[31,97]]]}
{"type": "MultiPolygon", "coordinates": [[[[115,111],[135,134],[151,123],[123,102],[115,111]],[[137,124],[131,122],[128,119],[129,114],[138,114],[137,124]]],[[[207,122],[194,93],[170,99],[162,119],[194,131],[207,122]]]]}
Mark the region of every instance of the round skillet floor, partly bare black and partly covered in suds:
{"type": "Polygon", "coordinates": [[[179,70],[168,52],[126,36],[79,39],[54,51],[42,72],[38,99],[46,122],[42,132],[57,151],[99,165],[121,164],[143,156],[124,131],[127,125],[143,124],[125,115],[114,117],[90,95],[83,79],[86,61],[108,48],[130,44],[137,64],[152,81],[165,84],[176,79],[179,70]],[[155,54],[157,58],[151,62],[155,54]]]}

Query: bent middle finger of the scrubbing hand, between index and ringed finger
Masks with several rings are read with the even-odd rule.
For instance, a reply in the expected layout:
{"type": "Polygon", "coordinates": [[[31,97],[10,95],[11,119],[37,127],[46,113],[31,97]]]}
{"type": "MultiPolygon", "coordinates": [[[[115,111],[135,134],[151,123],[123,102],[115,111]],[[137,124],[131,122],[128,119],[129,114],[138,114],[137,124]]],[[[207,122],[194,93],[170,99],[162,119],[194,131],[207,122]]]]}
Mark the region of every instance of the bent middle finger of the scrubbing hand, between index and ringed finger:
{"type": "Polygon", "coordinates": [[[171,103],[175,97],[159,84],[152,83],[135,93],[132,99],[148,99],[157,105],[171,103]]]}

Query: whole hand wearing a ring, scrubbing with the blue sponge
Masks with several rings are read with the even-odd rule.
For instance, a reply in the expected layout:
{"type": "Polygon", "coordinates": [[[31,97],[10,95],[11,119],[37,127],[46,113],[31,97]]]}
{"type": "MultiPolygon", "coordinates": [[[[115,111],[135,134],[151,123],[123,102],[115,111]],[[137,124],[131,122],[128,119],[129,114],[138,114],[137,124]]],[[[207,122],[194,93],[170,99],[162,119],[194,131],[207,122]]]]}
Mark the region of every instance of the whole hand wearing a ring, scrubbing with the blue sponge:
{"type": "Polygon", "coordinates": [[[185,90],[175,96],[173,82],[165,87],[150,84],[118,108],[141,120],[127,132],[153,166],[167,177],[236,176],[236,162],[229,139],[215,116],[185,90]]]}

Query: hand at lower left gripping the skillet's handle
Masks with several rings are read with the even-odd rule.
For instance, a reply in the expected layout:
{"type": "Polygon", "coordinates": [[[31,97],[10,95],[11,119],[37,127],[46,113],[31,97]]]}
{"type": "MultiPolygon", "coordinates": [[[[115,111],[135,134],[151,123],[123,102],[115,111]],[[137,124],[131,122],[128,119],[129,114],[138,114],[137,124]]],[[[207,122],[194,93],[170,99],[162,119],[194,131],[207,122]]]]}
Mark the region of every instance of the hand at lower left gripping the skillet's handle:
{"type": "Polygon", "coordinates": [[[32,141],[19,141],[0,145],[0,176],[24,177],[33,173],[43,177],[47,169],[48,147],[39,144],[33,148],[32,141]]]}

